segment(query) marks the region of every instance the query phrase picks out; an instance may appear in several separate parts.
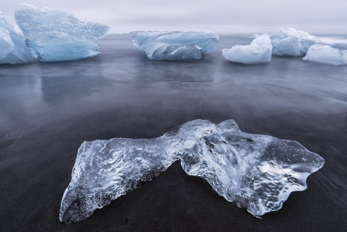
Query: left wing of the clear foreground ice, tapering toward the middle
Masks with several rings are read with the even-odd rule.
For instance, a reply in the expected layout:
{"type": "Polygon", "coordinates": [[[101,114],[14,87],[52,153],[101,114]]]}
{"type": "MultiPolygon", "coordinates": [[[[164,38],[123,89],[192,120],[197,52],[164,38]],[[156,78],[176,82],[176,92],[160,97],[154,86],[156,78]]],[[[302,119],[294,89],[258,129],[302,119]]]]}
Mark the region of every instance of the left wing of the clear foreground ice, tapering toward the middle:
{"type": "Polygon", "coordinates": [[[155,139],[84,142],[63,196],[60,221],[81,221],[95,209],[151,180],[179,159],[185,139],[201,138],[213,127],[209,121],[196,120],[155,139]]]}

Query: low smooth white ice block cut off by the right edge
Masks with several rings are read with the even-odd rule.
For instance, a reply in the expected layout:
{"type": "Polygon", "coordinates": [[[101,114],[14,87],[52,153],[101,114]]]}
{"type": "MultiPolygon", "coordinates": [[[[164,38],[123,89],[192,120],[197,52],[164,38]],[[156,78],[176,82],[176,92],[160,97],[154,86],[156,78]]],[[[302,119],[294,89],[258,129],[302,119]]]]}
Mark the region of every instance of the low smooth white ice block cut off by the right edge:
{"type": "Polygon", "coordinates": [[[346,65],[347,50],[340,50],[329,45],[312,45],[304,58],[304,61],[312,61],[325,65],[346,65]]]}

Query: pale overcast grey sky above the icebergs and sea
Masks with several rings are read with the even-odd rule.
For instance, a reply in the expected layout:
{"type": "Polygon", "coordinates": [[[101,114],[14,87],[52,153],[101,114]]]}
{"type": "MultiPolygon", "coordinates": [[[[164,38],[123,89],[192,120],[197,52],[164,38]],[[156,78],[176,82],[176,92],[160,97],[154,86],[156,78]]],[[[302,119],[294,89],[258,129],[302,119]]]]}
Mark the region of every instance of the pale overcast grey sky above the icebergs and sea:
{"type": "MultiPolygon", "coordinates": [[[[1,0],[15,25],[23,0],[1,0]]],[[[347,0],[27,0],[105,23],[111,33],[134,30],[263,33],[294,27],[309,33],[347,33],[347,0]]],[[[19,30],[15,25],[15,29],[19,30]]]]}

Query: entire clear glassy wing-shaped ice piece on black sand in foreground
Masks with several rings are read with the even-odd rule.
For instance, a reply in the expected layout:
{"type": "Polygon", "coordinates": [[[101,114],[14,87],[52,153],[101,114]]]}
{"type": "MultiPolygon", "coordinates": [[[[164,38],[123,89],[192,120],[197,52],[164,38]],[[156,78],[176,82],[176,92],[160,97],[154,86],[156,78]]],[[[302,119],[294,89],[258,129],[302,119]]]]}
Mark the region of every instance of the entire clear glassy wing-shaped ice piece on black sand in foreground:
{"type": "Polygon", "coordinates": [[[65,190],[60,221],[72,223],[166,170],[175,160],[226,200],[261,216],[282,207],[324,159],[295,141],[239,130],[234,120],[183,124],[155,139],[84,142],[65,190]]]}

